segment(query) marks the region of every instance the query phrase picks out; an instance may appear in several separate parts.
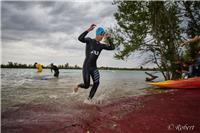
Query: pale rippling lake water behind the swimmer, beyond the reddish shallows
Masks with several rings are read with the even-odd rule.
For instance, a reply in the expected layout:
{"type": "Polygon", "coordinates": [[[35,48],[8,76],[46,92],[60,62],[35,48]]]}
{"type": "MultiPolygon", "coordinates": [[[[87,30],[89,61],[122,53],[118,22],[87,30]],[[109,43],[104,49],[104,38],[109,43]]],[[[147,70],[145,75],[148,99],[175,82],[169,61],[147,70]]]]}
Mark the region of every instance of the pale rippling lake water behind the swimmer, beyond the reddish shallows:
{"type": "MultiPolygon", "coordinates": [[[[146,93],[143,71],[100,70],[100,85],[94,96],[96,100],[109,102],[127,96],[146,93]]],[[[73,88],[82,82],[81,70],[60,70],[60,77],[54,78],[50,69],[36,73],[35,69],[1,69],[1,106],[2,111],[21,104],[45,104],[49,102],[71,103],[84,101],[89,89],[73,88]]]]}

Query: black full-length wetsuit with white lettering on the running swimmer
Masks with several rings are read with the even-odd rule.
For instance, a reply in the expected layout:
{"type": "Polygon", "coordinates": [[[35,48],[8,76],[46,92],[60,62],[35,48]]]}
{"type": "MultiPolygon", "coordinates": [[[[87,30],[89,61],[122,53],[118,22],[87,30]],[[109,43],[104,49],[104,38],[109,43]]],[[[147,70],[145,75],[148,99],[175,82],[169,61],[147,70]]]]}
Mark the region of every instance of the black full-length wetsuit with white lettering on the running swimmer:
{"type": "Polygon", "coordinates": [[[97,69],[96,61],[103,49],[106,50],[114,50],[114,45],[110,38],[108,38],[109,45],[102,44],[95,39],[91,38],[85,38],[85,36],[88,34],[87,31],[83,32],[78,40],[86,43],[86,58],[83,63],[83,81],[84,83],[79,84],[78,86],[81,88],[89,88],[90,86],[90,76],[93,80],[93,86],[89,94],[89,99],[92,99],[98,86],[99,86],[99,71],[97,69]]]}

